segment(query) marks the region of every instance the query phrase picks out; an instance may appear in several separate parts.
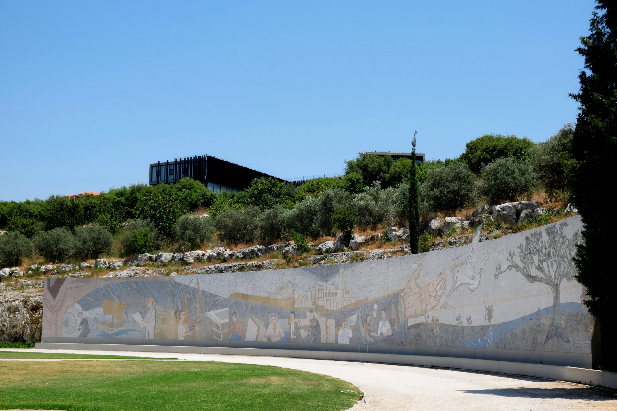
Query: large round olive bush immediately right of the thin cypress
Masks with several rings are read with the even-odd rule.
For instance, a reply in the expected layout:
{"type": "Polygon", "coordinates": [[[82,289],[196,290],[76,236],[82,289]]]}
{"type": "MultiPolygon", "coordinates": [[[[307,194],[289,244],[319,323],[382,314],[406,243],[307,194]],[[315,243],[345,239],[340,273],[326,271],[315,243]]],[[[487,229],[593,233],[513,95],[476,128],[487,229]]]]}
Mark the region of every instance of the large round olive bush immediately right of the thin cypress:
{"type": "Polygon", "coordinates": [[[420,185],[420,202],[426,202],[433,212],[452,215],[476,201],[476,175],[462,161],[429,170],[420,185]]]}

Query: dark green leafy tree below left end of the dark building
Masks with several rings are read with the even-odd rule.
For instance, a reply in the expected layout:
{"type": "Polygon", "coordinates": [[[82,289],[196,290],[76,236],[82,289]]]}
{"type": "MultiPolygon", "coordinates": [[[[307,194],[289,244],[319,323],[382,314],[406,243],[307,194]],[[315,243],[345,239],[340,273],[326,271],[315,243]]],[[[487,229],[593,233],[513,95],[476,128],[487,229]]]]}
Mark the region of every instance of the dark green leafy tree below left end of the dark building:
{"type": "Polygon", "coordinates": [[[161,235],[172,237],[173,226],[178,218],[188,212],[188,206],[180,203],[172,186],[159,185],[156,190],[142,195],[136,210],[140,218],[154,223],[161,235]]]}

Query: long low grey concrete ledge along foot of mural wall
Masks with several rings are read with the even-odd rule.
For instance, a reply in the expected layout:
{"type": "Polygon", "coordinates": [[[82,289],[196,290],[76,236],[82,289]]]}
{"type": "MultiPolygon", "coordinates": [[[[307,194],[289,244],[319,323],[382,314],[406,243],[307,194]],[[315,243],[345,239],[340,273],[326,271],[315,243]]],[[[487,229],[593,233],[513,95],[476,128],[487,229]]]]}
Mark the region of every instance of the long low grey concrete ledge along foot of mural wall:
{"type": "Polygon", "coordinates": [[[457,357],[436,357],[429,355],[380,354],[337,351],[305,351],[292,349],[236,348],[236,347],[194,347],[194,346],[155,346],[131,344],[83,344],[73,342],[36,342],[39,349],[94,350],[94,351],[150,351],[182,352],[187,354],[253,355],[260,357],[291,357],[318,360],[341,360],[360,362],[379,362],[389,364],[423,365],[426,367],[460,368],[513,375],[536,376],[550,380],[571,381],[573,383],[617,389],[617,373],[590,370],[589,368],[561,367],[524,362],[481,360],[457,357]]]}

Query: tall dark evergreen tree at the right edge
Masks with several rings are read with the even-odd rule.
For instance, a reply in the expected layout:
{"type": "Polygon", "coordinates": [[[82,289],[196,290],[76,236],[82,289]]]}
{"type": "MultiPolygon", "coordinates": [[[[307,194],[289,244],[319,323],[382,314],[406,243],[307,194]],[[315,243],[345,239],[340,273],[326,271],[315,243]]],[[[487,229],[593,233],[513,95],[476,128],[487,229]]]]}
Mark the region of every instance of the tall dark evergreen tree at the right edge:
{"type": "Polygon", "coordinates": [[[577,51],[585,58],[578,94],[579,106],[571,156],[576,160],[571,191],[582,217],[583,242],[576,252],[576,280],[587,288],[590,313],[602,326],[602,367],[617,371],[617,334],[611,325],[615,313],[617,276],[607,259],[613,252],[608,238],[613,227],[606,222],[606,207],[615,204],[617,158],[617,4],[597,0],[590,22],[590,35],[581,37],[577,51]],[[607,185],[608,183],[608,185],[607,185]]]}

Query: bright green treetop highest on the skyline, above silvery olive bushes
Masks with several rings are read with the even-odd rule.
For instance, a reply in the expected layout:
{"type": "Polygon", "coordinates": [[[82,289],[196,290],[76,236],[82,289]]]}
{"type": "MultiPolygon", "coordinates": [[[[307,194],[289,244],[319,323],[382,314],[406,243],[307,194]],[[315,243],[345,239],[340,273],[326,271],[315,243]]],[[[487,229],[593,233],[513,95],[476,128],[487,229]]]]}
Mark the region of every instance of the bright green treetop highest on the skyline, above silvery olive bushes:
{"type": "Polygon", "coordinates": [[[502,157],[526,161],[533,146],[534,142],[526,137],[487,134],[467,143],[460,159],[467,163],[472,172],[479,174],[482,164],[491,164],[502,157]]]}

